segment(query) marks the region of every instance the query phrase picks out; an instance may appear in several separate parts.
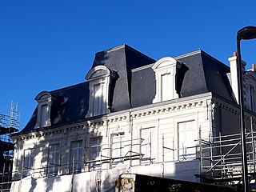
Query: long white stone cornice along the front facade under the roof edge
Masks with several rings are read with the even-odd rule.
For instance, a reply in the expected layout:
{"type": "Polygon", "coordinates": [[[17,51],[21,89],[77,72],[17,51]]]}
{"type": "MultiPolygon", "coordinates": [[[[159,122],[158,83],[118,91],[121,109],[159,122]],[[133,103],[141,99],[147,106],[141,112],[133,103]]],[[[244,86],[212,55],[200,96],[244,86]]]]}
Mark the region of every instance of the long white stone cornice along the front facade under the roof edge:
{"type": "Polygon", "coordinates": [[[166,102],[158,102],[148,106],[142,106],[131,110],[124,110],[107,114],[106,117],[97,118],[93,120],[86,120],[74,125],[54,127],[47,130],[34,130],[27,134],[14,136],[17,140],[27,140],[31,138],[46,137],[49,135],[59,133],[69,133],[74,130],[89,130],[90,127],[106,126],[110,122],[129,122],[131,119],[145,118],[147,116],[168,114],[174,111],[189,110],[196,107],[205,107],[209,99],[212,99],[212,94],[202,94],[198,97],[179,98],[166,102]]]}

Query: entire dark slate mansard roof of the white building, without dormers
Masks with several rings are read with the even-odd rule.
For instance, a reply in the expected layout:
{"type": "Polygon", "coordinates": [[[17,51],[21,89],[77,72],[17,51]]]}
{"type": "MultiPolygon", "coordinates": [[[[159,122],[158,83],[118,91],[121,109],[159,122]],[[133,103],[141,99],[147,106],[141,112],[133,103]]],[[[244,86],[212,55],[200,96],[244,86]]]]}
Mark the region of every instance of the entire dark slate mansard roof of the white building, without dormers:
{"type": "MultiPolygon", "coordinates": [[[[174,59],[182,62],[188,68],[182,83],[181,97],[212,92],[233,102],[232,90],[227,73],[230,68],[217,59],[197,50],[174,59]]],[[[152,104],[156,91],[156,82],[152,66],[155,60],[122,45],[95,54],[95,66],[106,66],[118,74],[112,93],[113,104],[111,112],[129,110],[138,106],[152,104]]],[[[54,97],[50,109],[51,127],[62,126],[86,119],[89,107],[89,82],[53,90],[49,92],[54,97]]],[[[37,121],[37,109],[20,134],[33,131],[37,121]]],[[[97,117],[95,117],[97,118],[97,117]]]]}

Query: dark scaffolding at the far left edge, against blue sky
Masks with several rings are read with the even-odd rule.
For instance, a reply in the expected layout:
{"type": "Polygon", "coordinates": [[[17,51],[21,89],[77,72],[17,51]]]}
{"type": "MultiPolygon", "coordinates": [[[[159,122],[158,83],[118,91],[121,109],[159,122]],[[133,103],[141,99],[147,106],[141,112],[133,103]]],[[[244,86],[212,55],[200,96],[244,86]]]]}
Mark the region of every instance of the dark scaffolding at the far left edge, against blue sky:
{"type": "Polygon", "coordinates": [[[11,102],[10,114],[0,114],[0,191],[8,191],[10,187],[14,142],[10,134],[17,132],[20,123],[18,104],[11,102]]]}

